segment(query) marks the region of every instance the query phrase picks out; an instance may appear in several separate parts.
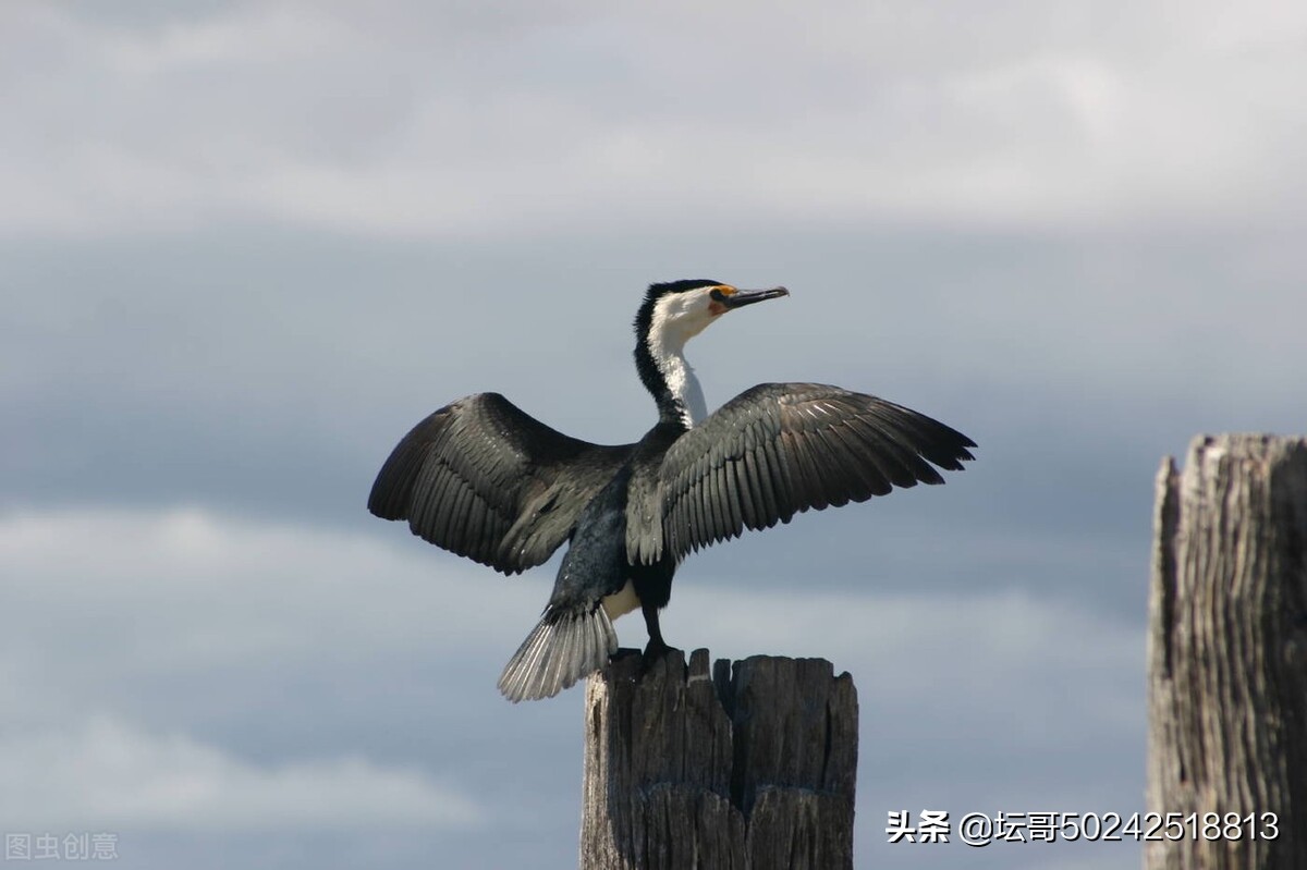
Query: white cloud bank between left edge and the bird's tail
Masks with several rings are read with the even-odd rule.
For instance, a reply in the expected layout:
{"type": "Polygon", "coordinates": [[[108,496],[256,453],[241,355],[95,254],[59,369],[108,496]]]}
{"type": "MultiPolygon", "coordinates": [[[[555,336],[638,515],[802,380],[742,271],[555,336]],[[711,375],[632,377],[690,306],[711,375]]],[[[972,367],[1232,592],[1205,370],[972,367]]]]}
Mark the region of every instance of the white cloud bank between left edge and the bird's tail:
{"type": "MultiPolygon", "coordinates": [[[[93,651],[128,669],[303,661],[354,644],[418,654],[435,614],[456,623],[460,649],[498,640],[507,658],[508,640],[525,636],[540,606],[529,587],[469,577],[471,563],[417,547],[401,555],[405,536],[396,525],[387,547],[358,533],[187,508],[14,512],[0,523],[0,566],[20,622],[0,649],[50,643],[43,614],[76,602],[59,623],[80,641],[65,656],[93,651]],[[520,632],[494,605],[523,614],[520,632]]],[[[51,652],[59,660],[58,647],[51,652]]]]}

